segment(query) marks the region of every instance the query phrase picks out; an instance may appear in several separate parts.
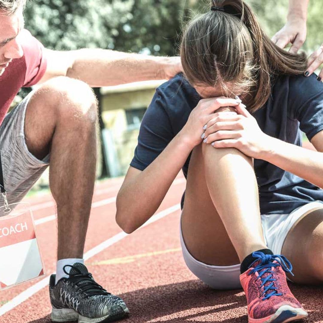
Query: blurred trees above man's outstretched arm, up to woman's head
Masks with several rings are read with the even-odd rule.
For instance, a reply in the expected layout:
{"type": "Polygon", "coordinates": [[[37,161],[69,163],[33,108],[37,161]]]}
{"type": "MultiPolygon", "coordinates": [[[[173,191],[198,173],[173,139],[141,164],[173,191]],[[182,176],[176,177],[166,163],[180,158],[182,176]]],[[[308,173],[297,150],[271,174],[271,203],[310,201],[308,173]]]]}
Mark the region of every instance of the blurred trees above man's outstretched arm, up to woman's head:
{"type": "Polygon", "coordinates": [[[110,48],[174,55],[185,1],[33,0],[26,28],[47,48],[110,48]]]}

